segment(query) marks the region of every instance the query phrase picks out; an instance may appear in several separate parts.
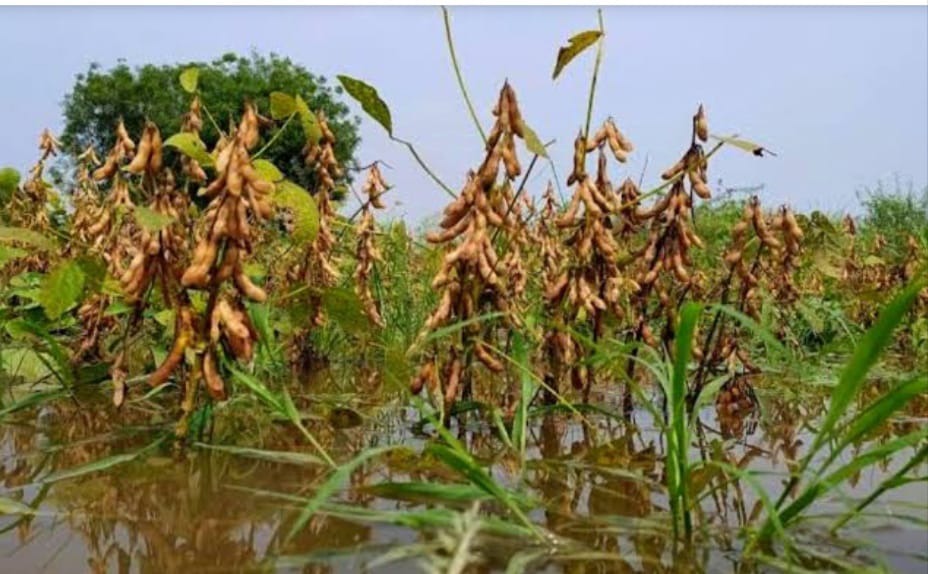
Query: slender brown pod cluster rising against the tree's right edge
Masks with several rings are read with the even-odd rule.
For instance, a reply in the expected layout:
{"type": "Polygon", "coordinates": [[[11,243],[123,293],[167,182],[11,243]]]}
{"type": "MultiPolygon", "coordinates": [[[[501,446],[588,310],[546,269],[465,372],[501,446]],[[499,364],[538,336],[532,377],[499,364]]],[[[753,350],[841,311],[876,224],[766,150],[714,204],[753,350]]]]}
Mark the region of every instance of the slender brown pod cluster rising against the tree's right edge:
{"type": "MultiPolygon", "coordinates": [[[[321,326],[325,323],[321,290],[333,285],[341,276],[332,253],[335,248],[332,222],[336,216],[332,192],[335,190],[336,182],[344,177],[344,172],[335,157],[335,134],[329,128],[325,114],[318,112],[316,120],[322,137],[319,141],[308,142],[303,148],[303,153],[306,165],[312,168],[316,178],[313,198],[319,211],[319,232],[306,252],[301,275],[303,282],[315,289],[310,296],[313,308],[312,324],[321,326]]],[[[376,195],[379,199],[380,194],[376,195]]]]}

